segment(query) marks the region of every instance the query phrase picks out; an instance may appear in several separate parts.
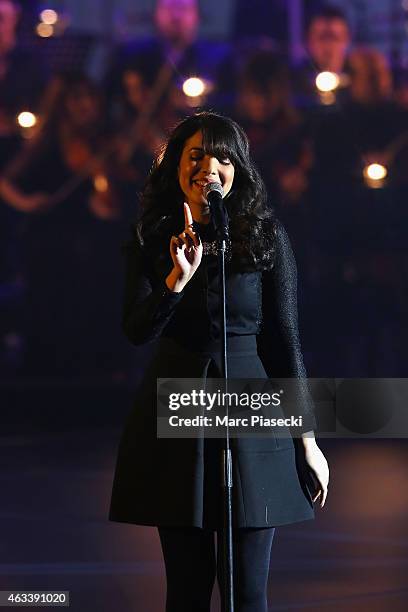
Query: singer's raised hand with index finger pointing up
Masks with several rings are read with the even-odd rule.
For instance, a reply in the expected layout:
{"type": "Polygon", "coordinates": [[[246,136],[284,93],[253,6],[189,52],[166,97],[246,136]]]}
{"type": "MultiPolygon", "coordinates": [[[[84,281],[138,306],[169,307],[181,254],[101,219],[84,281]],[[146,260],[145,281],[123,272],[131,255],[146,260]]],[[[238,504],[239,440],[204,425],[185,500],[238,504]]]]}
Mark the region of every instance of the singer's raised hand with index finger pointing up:
{"type": "Polygon", "coordinates": [[[170,255],[174,268],[166,279],[172,291],[182,291],[201,263],[203,245],[193,230],[193,216],[189,205],[184,202],[184,230],[170,240],[170,255]]]}

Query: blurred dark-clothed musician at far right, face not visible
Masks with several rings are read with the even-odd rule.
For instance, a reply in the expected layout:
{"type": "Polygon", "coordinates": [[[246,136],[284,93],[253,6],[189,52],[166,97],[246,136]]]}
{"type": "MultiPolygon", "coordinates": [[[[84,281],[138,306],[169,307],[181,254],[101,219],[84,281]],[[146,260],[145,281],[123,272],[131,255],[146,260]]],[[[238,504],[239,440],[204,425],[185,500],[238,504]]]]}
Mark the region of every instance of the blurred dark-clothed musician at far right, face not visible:
{"type": "MultiPolygon", "coordinates": [[[[326,185],[332,211],[343,188],[363,184],[364,164],[375,159],[380,162],[402,127],[385,57],[371,48],[357,48],[350,53],[348,65],[349,100],[341,108],[322,107],[308,117],[315,156],[315,196],[320,199],[326,185]]],[[[353,206],[343,193],[339,201],[343,219],[346,204],[353,206]]],[[[325,203],[323,207],[326,209],[325,203]]]]}

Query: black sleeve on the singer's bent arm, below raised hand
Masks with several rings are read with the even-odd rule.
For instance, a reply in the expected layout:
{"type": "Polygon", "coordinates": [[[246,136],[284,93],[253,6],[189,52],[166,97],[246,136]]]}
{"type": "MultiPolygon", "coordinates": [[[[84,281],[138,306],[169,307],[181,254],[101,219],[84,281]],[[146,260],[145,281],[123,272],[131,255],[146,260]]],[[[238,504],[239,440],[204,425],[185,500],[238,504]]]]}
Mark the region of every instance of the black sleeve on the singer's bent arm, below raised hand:
{"type": "Polygon", "coordinates": [[[165,278],[152,283],[152,274],[142,248],[134,241],[123,246],[125,257],[125,288],[122,329],[132,344],[139,345],[157,339],[171,319],[184,296],[171,291],[165,278]]]}

